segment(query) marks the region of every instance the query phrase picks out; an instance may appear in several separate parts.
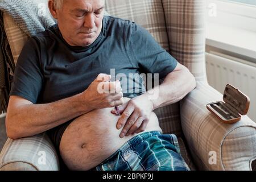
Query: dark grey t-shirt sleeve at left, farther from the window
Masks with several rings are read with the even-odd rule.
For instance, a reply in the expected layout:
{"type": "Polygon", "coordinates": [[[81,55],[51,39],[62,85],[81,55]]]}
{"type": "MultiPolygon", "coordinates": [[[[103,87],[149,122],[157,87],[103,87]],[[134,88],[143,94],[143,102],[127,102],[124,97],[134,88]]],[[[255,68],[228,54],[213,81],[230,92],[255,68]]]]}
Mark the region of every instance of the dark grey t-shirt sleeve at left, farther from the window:
{"type": "Polygon", "coordinates": [[[10,96],[20,96],[36,104],[43,85],[40,69],[40,49],[30,38],[24,45],[16,63],[10,96]]]}

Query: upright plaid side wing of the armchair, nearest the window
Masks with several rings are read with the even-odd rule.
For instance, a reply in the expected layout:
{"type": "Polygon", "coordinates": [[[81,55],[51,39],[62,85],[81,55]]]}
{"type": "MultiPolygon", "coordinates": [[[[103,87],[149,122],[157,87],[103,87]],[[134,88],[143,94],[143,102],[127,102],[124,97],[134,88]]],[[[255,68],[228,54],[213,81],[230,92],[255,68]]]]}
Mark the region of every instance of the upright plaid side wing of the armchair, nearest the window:
{"type": "Polygon", "coordinates": [[[163,0],[170,52],[197,81],[205,70],[205,0],[163,0]]]}

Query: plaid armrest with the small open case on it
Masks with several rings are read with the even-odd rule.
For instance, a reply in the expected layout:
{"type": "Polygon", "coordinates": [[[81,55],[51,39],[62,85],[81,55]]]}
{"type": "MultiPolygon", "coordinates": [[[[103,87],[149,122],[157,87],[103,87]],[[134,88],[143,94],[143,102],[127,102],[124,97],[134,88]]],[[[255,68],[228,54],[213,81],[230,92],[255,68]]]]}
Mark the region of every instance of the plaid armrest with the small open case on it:
{"type": "Polygon", "coordinates": [[[222,94],[207,82],[180,101],[181,127],[196,166],[203,170],[251,170],[256,162],[256,124],[247,115],[225,124],[207,110],[222,94]]]}

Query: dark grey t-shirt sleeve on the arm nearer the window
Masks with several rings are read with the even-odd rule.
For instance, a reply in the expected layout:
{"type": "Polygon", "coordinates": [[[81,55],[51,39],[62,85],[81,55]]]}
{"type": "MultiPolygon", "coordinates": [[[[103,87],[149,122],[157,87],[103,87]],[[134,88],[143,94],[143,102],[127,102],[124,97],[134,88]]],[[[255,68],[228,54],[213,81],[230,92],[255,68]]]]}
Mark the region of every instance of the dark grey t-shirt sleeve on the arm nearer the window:
{"type": "Polygon", "coordinates": [[[144,73],[158,73],[160,79],[174,71],[177,60],[146,29],[132,23],[128,32],[129,48],[133,53],[131,61],[137,68],[141,68],[144,73]]]}

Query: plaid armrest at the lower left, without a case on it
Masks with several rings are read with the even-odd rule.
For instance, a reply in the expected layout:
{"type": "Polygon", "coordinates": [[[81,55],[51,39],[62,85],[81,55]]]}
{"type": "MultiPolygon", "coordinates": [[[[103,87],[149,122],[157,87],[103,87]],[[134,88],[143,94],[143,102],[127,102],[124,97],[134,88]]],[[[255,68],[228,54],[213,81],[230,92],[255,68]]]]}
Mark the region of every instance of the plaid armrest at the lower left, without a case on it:
{"type": "Polygon", "coordinates": [[[48,135],[8,138],[0,154],[0,171],[4,170],[59,170],[58,157],[48,135]]]}

